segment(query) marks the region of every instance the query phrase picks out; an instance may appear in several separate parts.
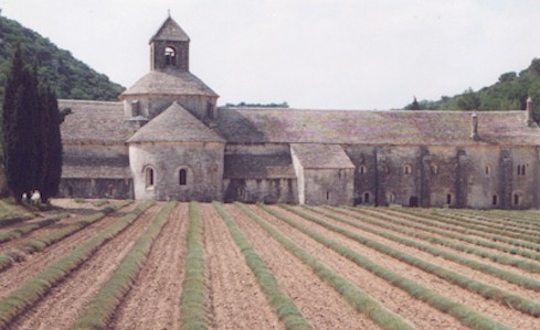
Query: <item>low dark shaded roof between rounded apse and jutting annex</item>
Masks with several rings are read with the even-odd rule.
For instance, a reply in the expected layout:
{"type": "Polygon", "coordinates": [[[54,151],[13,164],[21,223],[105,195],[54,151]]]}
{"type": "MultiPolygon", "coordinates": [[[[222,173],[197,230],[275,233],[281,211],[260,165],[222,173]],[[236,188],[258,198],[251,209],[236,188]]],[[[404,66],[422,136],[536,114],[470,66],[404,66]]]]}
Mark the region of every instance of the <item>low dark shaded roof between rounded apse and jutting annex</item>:
{"type": "Polygon", "coordinates": [[[225,155],[225,179],[296,178],[290,155],[225,155]]]}

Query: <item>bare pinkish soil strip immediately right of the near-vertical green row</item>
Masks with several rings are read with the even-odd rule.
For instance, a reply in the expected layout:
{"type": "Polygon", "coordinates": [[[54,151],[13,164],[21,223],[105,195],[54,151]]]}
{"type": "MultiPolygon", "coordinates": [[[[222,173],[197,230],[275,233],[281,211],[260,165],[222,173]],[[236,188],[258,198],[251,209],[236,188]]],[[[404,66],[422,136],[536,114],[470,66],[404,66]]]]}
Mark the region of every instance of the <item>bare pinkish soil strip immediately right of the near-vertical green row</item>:
{"type": "Polygon", "coordinates": [[[200,210],[212,328],[283,329],[223,220],[211,204],[200,210]]]}

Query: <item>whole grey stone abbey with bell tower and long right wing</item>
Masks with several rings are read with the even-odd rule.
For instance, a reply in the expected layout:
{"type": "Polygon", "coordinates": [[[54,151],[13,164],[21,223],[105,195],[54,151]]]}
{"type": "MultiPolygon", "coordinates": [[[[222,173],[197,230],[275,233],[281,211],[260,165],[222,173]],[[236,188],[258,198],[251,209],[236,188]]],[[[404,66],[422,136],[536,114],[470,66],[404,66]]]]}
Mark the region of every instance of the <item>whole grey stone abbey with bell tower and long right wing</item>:
{"type": "Polygon", "coordinates": [[[516,111],[218,108],[169,17],[120,102],[61,100],[63,196],[540,206],[540,129],[516,111]]]}

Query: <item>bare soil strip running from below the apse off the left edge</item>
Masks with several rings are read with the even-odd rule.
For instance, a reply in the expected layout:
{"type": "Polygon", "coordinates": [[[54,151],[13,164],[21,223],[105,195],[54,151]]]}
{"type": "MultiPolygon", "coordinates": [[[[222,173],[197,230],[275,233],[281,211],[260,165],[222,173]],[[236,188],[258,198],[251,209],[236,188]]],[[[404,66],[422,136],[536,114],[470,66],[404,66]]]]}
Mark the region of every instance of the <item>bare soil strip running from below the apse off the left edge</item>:
{"type": "MultiPolygon", "coordinates": [[[[135,209],[137,203],[133,203],[125,209],[121,209],[113,214],[107,215],[100,221],[83,228],[82,231],[74,233],[64,239],[56,242],[49,246],[43,252],[25,255],[25,260],[21,263],[14,263],[13,266],[4,272],[0,273],[0,299],[8,296],[12,290],[17,289],[29,278],[35,274],[41,273],[45,267],[52,265],[54,262],[62,258],[68,251],[72,251],[75,246],[80,245],[96,233],[113,224],[115,221],[126,215],[129,211],[135,209]]],[[[81,219],[80,219],[81,220],[81,219]]],[[[46,230],[50,231],[51,228],[46,230]]],[[[40,231],[38,231],[40,232],[40,231]]],[[[36,235],[44,234],[45,230],[36,235]]],[[[27,239],[31,239],[28,237],[27,239]]]]}

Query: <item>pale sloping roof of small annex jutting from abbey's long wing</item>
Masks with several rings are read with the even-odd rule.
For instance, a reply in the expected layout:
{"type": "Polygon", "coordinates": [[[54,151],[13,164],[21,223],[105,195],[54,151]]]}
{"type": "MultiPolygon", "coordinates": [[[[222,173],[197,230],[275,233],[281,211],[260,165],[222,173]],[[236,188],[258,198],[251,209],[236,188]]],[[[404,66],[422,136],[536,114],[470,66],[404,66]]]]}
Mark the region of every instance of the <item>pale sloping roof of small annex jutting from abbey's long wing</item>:
{"type": "Polygon", "coordinates": [[[339,145],[290,145],[305,169],[353,169],[351,160],[339,145]]]}

